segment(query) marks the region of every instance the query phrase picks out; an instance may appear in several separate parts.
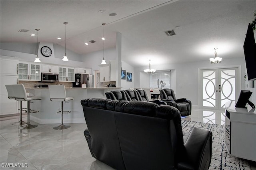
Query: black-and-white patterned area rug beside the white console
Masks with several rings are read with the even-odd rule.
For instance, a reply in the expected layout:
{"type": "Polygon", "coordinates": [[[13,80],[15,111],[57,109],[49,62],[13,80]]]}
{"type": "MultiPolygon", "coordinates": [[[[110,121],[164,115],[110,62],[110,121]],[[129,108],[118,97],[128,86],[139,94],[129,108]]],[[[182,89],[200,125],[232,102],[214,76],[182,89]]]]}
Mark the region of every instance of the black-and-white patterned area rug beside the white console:
{"type": "Polygon", "coordinates": [[[209,170],[250,170],[250,164],[244,159],[230,156],[224,144],[224,126],[209,123],[182,120],[182,130],[190,132],[193,127],[212,131],[212,160],[209,170]]]}

